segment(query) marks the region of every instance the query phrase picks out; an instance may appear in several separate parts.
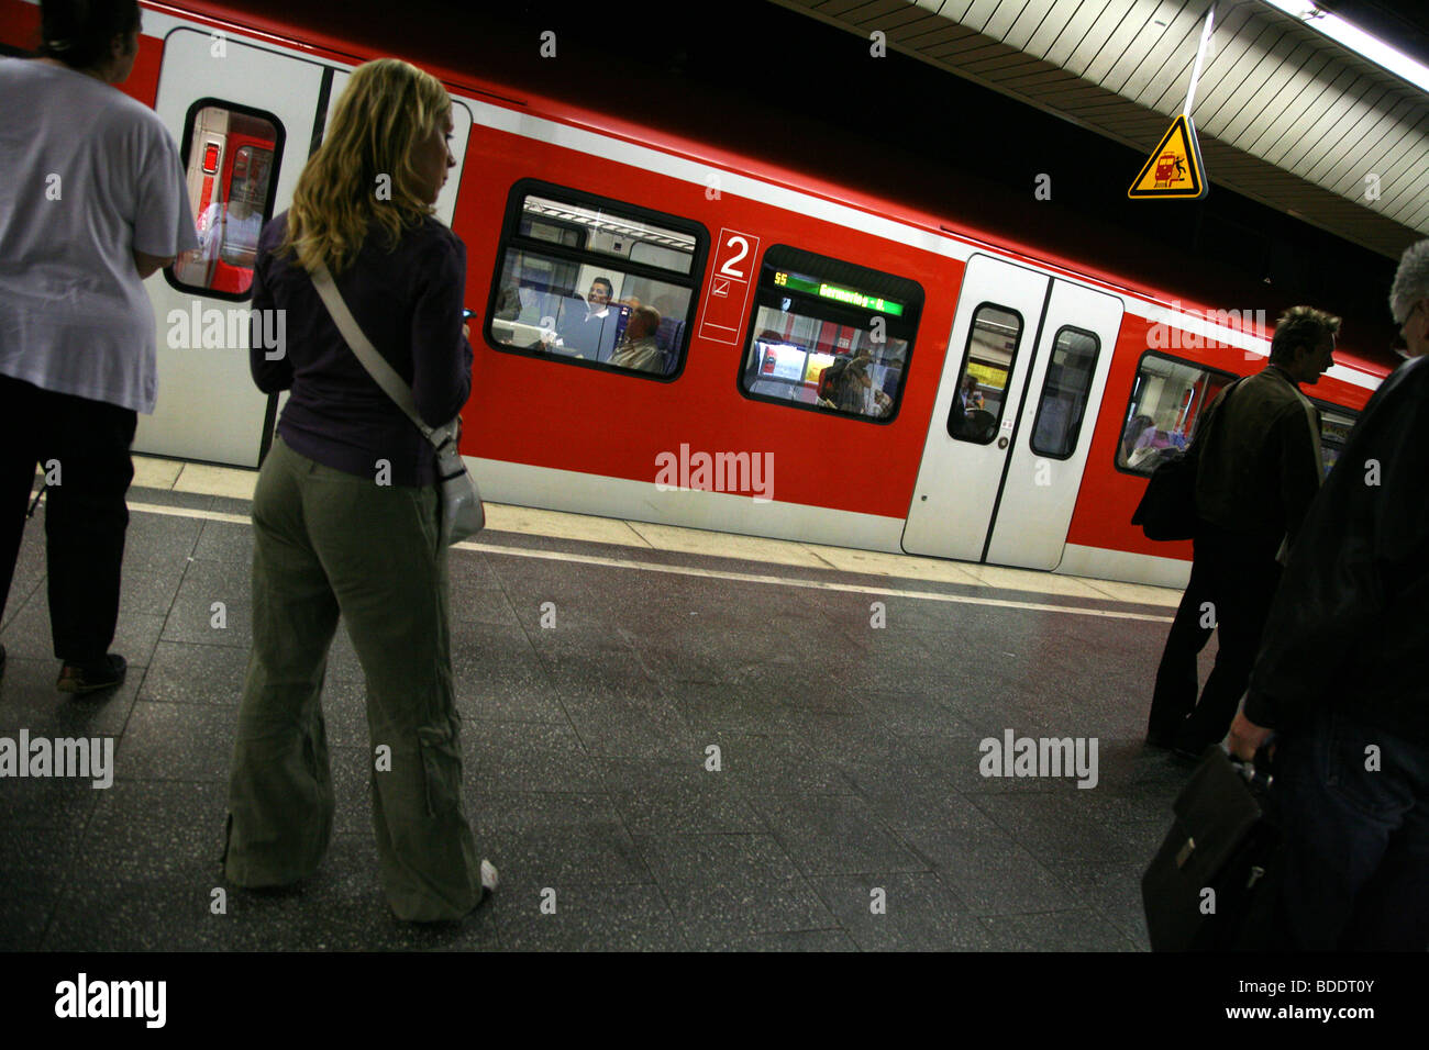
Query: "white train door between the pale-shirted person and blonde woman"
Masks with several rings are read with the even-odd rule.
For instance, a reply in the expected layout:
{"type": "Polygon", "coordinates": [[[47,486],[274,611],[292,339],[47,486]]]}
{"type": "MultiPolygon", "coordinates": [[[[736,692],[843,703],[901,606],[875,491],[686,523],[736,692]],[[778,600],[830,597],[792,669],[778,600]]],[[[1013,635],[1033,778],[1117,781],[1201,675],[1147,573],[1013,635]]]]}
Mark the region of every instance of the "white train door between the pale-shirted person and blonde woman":
{"type": "MultiPolygon", "coordinates": [[[[323,66],[221,34],[164,41],[154,111],[181,150],[203,246],[150,277],[159,406],[137,451],[256,466],[269,406],[249,374],[253,250],[293,199],[317,119],[323,66]]],[[[273,319],[269,333],[280,327],[273,319]]]]}

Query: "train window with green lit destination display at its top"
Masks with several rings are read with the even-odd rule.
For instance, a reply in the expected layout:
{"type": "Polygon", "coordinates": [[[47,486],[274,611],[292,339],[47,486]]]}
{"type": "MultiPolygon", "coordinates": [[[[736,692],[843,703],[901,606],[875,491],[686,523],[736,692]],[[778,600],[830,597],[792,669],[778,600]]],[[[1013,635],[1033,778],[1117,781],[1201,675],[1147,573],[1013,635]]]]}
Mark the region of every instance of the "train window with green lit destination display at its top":
{"type": "Polygon", "coordinates": [[[890,420],[923,289],[785,244],[765,253],[740,389],[747,397],[890,420]]]}

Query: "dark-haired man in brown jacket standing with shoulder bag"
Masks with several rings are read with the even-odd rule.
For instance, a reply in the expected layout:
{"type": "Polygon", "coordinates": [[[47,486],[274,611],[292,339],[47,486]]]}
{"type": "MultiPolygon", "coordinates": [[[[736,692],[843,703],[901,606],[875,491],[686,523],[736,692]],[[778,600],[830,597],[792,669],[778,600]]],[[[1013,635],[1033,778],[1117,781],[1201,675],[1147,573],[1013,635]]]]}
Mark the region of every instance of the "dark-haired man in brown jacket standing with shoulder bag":
{"type": "Polygon", "coordinates": [[[1222,391],[1200,421],[1195,560],[1156,671],[1149,744],[1199,757],[1230,727],[1280,581],[1278,554],[1319,490],[1319,413],[1299,384],[1335,363],[1339,324],[1323,310],[1288,310],[1270,363],[1222,391]],[[1213,630],[1220,649],[1196,703],[1196,656],[1213,630]]]}

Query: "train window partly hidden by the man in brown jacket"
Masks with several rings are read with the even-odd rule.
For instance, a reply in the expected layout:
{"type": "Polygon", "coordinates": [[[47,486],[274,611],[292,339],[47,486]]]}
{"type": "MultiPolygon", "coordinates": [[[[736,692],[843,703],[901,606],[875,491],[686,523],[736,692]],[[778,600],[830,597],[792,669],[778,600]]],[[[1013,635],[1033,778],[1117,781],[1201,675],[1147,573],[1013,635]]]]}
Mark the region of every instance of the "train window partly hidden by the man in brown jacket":
{"type": "Polygon", "coordinates": [[[1162,354],[1142,357],[1116,444],[1116,466],[1150,474],[1170,453],[1190,444],[1206,406],[1235,381],[1229,371],[1162,354]]]}

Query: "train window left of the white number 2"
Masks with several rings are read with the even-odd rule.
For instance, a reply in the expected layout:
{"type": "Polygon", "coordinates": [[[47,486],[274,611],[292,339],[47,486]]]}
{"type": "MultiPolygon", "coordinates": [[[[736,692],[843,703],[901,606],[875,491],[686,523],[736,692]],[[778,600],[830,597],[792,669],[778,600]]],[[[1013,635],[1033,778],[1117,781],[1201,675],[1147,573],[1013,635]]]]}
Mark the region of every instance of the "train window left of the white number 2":
{"type": "Polygon", "coordinates": [[[517,183],[486,319],[499,350],[673,376],[709,236],[684,219],[517,183]]]}

